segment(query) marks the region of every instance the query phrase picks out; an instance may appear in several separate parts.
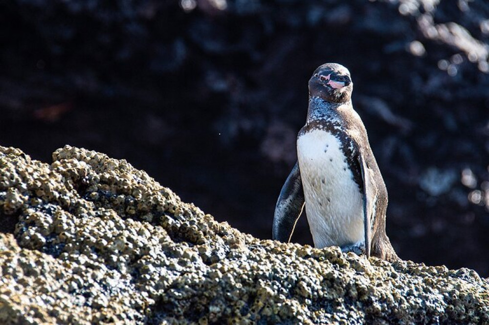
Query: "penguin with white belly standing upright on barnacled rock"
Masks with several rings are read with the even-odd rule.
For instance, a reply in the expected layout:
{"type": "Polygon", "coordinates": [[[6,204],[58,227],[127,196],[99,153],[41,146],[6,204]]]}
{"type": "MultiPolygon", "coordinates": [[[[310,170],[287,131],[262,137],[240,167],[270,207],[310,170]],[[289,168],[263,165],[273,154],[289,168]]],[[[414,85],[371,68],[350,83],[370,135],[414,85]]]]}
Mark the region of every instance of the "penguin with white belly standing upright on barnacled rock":
{"type": "Polygon", "coordinates": [[[312,74],[297,163],[275,206],[272,237],[290,242],[305,208],[315,247],[335,245],[392,262],[399,258],[385,232],[387,188],[352,91],[341,64],[323,64],[312,74]]]}

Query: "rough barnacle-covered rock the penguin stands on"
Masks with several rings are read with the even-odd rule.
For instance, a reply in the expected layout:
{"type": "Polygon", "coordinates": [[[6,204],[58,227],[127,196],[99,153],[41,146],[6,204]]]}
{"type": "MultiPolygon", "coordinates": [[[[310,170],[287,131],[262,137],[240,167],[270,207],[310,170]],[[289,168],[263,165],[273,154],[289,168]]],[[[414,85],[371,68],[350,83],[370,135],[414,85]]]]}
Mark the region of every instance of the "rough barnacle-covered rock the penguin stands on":
{"type": "Polygon", "coordinates": [[[0,147],[1,324],[487,324],[468,269],[258,240],[124,160],[0,147]]]}

